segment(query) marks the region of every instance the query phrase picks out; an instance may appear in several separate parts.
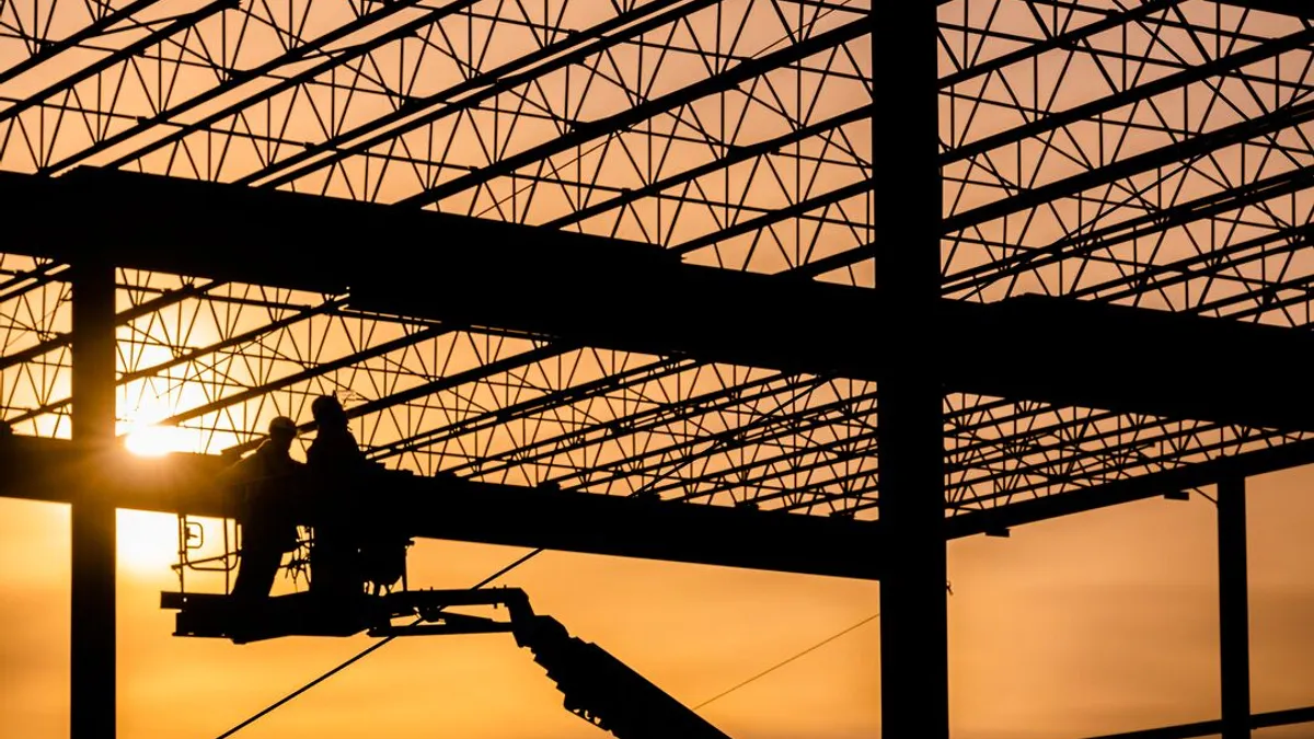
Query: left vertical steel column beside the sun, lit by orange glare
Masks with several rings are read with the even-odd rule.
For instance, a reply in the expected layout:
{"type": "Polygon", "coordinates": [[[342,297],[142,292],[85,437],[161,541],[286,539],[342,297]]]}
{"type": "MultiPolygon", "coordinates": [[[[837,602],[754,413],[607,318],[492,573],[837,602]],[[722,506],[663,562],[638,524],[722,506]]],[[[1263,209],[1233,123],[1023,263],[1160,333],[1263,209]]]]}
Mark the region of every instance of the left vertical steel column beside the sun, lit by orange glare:
{"type": "Polygon", "coordinates": [[[97,500],[114,443],[114,268],[72,266],[72,435],[84,475],[72,500],[71,738],[113,739],[114,506],[97,500]]]}

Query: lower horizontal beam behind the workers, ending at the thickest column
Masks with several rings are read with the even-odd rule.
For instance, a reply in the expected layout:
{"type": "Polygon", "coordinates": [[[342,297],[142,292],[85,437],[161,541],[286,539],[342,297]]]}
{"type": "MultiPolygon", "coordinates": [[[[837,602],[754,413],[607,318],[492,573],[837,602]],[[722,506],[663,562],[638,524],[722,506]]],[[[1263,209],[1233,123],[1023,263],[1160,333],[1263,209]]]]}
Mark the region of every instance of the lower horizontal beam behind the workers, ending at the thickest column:
{"type": "MultiPolygon", "coordinates": [[[[0,442],[4,443],[4,442],[0,442]]],[[[72,502],[74,480],[116,508],[231,517],[214,475],[229,460],[176,454],[137,458],[113,448],[79,451],[71,442],[14,437],[0,460],[0,496],[72,502]]],[[[879,577],[879,525],[537,489],[457,477],[381,472],[371,504],[420,538],[825,575],[879,577]],[[382,483],[382,484],[378,484],[382,483]]]]}

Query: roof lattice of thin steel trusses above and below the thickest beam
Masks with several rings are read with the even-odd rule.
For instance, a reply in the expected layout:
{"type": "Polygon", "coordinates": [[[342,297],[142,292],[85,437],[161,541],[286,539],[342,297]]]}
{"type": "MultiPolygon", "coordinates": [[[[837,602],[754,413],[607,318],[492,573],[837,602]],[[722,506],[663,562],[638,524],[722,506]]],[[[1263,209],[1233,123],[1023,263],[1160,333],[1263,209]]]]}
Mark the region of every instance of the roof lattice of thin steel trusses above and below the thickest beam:
{"type": "MultiPolygon", "coordinates": [[[[0,168],[285,188],[872,284],[869,4],[0,3],[0,168]]],[[[1214,0],[940,7],[945,293],[1310,323],[1314,29],[1214,0]]],[[[68,431],[63,266],[0,258],[0,389],[68,431]]],[[[120,412],[248,444],[347,400],[420,472],[875,515],[875,387],[469,331],[124,271],[120,412]]],[[[950,501],[1294,437],[946,400],[950,501]]]]}

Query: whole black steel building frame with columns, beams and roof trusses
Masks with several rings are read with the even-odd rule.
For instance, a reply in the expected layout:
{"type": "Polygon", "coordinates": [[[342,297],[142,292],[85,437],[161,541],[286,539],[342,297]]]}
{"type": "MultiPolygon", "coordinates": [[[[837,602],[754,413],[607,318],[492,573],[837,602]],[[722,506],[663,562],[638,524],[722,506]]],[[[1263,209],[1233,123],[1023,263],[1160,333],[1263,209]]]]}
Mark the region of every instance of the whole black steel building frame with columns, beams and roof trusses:
{"type": "Polygon", "coordinates": [[[1314,192],[1314,85],[1301,71],[1314,59],[1314,11],[1296,0],[650,0],[566,20],[572,5],[558,3],[556,25],[487,18],[477,0],[361,3],[302,37],[309,3],[298,18],[230,0],[152,14],[158,0],[134,0],[11,34],[29,55],[0,70],[0,93],[49,62],[87,59],[0,109],[0,126],[28,142],[26,154],[0,147],[0,308],[5,330],[25,337],[5,345],[0,372],[26,393],[0,408],[18,434],[0,492],[72,504],[74,739],[114,735],[116,509],[213,512],[158,468],[148,480],[88,473],[117,447],[125,398],[155,381],[209,388],[202,401],[162,392],[172,405],[160,421],[222,437],[208,451],[234,454],[259,443],[251,421],[275,406],[300,419],[326,387],[359,393],[338,380],[351,372],[377,391],[348,404],[374,459],[472,483],[399,501],[417,535],[879,580],[884,736],[949,735],[949,539],[1217,488],[1221,719],[1134,735],[1238,739],[1314,721],[1314,709],[1251,713],[1244,506],[1247,477],[1314,463],[1300,371],[1314,358],[1314,275],[1298,259],[1314,192]],[[1000,7],[1045,33],[993,25],[1008,16],[1000,7]],[[694,43],[690,18],[715,22],[721,39],[723,13],[742,12],[746,26],[765,11],[779,12],[784,43],[753,54],[694,43]],[[444,24],[473,33],[493,21],[540,34],[539,47],[476,63],[470,42],[459,59],[469,74],[443,89],[422,89],[419,66],[388,78],[372,57],[405,59],[407,43],[436,46],[444,24]],[[286,43],[254,66],[198,51],[233,22],[286,43]],[[1009,50],[983,54],[987,41],[1009,50]],[[1188,45],[1204,60],[1190,62],[1188,45]],[[662,80],[649,51],[706,68],[662,80]],[[1018,70],[1064,55],[1113,89],[1059,105],[1068,88],[1046,88],[1037,71],[1034,100],[1000,92],[1018,70]],[[607,64],[625,105],[594,114],[576,91],[561,93],[562,112],[548,92],[535,97],[552,75],[607,76],[607,64]],[[146,67],[212,78],[191,97],[162,82],[146,103],[91,100],[95,85],[146,67]],[[813,99],[787,103],[779,80],[811,85],[813,99]],[[867,97],[804,114],[832,84],[867,97]],[[1256,87],[1263,95],[1238,103],[1236,89],[1256,87]],[[1231,117],[1192,108],[1196,89],[1231,117]],[[332,113],[301,113],[319,131],[283,125],[298,93],[334,100],[332,113]],[[347,93],[388,107],[352,118],[331,97],[347,93]],[[698,105],[724,117],[740,110],[735,96],[757,105],[744,120],[775,107],[787,125],[748,143],[733,126],[708,129],[698,105]],[[286,104],[284,118],[271,101],[286,104]],[[1021,122],[967,135],[959,117],[989,105],[1021,122]],[[267,118],[254,122],[259,110],[267,118]],[[555,134],[494,133],[486,160],[456,160],[451,145],[469,139],[452,120],[497,130],[498,116],[555,134]],[[64,117],[92,124],[41,128],[64,117]],[[448,149],[413,151],[439,134],[448,149]],[[1042,153],[1066,146],[1060,135],[1072,151],[1051,174],[1042,153]],[[1158,143],[1120,151],[1118,137],[1137,135],[1158,143]],[[674,171],[649,154],[653,174],[639,181],[607,180],[615,159],[594,162],[593,175],[564,164],[599,142],[699,137],[710,154],[674,171]],[[213,141],[268,156],[223,171],[213,141]],[[1012,178],[1004,155],[1016,158],[1012,178]],[[1187,183],[1209,163],[1222,172],[1212,185],[1187,183]],[[410,167],[422,184],[398,185],[388,167],[410,167]],[[749,203],[766,178],[754,176],[773,167],[828,189],[787,187],[777,172],[784,195],[749,203]],[[403,195],[384,199],[389,188],[403,195]],[[587,196],[562,195],[547,213],[527,203],[572,188],[587,196]],[[1033,222],[1059,233],[1034,235],[1033,222]],[[783,267],[754,262],[771,239],[783,267]],[[334,256],[361,247],[368,258],[334,256]],[[1210,293],[1215,284],[1226,287],[1210,293]],[[205,312],[218,335],[197,343],[180,326],[205,312]],[[355,338],[326,356],[331,337],[355,338]],[[283,342],[293,348],[271,348],[283,342]],[[457,343],[473,362],[456,359],[457,343]],[[1222,379],[1180,370],[1226,355],[1264,362],[1236,362],[1222,379]],[[581,356],[604,371],[560,380],[581,356]],[[259,370],[219,367],[233,359],[259,370]],[[205,377],[185,375],[201,366],[205,377]],[[629,410],[587,406],[610,400],[629,410]],[[435,422],[439,405],[445,421],[435,422]],[[553,416],[562,409],[569,418],[553,416]],[[561,431],[518,431],[544,418],[561,431]],[[486,443],[470,451],[463,439],[486,443]],[[653,521],[686,535],[645,534],[653,521]]]}

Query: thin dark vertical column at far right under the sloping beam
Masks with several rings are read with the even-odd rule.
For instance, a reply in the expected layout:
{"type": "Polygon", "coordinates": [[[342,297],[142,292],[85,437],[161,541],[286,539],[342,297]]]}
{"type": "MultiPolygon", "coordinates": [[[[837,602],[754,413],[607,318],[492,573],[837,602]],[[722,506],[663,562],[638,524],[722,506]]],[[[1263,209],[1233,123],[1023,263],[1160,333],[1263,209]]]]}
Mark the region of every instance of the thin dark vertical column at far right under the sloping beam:
{"type": "Polygon", "coordinates": [[[1218,656],[1223,739],[1250,739],[1250,588],[1246,479],[1218,483],[1218,656]]]}

